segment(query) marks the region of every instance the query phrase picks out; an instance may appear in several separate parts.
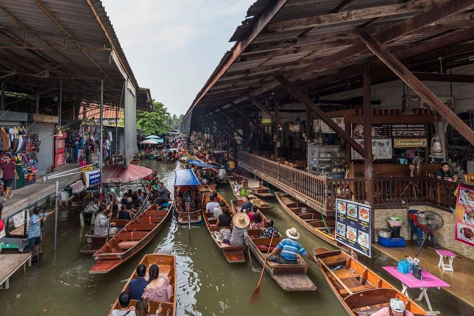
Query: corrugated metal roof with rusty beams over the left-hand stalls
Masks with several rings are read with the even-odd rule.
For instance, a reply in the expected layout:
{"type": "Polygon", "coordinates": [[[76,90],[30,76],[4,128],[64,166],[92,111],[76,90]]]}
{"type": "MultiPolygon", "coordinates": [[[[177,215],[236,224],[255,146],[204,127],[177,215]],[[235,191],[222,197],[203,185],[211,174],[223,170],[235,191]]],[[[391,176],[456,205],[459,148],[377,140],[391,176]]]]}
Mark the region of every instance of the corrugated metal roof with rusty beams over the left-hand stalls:
{"type": "MultiPolygon", "coordinates": [[[[8,91],[58,94],[62,81],[64,101],[98,102],[104,79],[104,102],[117,105],[124,77],[138,89],[100,0],[0,2],[0,78],[8,91]]],[[[137,99],[137,108],[150,107],[137,99]]]]}

